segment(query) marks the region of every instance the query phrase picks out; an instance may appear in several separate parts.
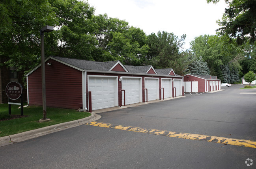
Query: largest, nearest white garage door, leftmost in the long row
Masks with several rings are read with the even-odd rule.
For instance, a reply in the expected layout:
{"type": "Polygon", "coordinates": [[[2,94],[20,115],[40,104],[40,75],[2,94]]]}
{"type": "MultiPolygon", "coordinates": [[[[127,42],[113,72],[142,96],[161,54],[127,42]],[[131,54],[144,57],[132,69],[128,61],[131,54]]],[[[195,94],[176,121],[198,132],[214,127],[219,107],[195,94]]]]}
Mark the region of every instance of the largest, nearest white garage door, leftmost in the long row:
{"type": "Polygon", "coordinates": [[[117,106],[116,78],[89,77],[88,91],[92,92],[92,110],[117,106]]]}

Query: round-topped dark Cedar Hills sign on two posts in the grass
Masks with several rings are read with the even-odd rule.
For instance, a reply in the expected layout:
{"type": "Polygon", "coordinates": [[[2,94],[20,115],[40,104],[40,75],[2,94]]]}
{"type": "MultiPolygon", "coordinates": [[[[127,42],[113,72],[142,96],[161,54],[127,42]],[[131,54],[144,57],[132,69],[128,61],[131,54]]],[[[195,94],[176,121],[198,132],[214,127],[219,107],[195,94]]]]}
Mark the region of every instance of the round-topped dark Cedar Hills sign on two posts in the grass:
{"type": "Polygon", "coordinates": [[[9,114],[11,114],[11,104],[21,105],[21,115],[23,115],[23,95],[22,86],[18,82],[9,82],[6,86],[6,95],[9,98],[9,114]],[[21,103],[12,103],[10,100],[17,100],[21,98],[21,103]]]}

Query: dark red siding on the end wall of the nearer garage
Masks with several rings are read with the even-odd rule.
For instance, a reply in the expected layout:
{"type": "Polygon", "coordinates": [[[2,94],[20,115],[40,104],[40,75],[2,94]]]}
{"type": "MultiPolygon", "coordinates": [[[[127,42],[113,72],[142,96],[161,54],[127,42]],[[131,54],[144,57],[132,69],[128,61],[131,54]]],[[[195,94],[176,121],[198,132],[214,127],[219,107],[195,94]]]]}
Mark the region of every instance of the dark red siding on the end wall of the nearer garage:
{"type": "MultiPolygon", "coordinates": [[[[81,71],[49,59],[45,63],[45,86],[47,106],[82,107],[81,71]]],[[[28,76],[28,96],[30,104],[42,105],[41,67],[28,76]]]]}

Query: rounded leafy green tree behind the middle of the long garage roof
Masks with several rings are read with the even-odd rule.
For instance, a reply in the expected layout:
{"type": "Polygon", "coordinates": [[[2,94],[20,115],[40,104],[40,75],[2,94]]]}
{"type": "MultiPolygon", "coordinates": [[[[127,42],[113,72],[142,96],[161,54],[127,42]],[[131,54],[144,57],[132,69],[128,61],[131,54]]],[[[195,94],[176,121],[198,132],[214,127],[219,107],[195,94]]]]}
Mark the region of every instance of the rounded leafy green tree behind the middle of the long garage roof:
{"type": "Polygon", "coordinates": [[[146,64],[149,47],[146,34],[140,28],[129,26],[125,20],[109,18],[107,14],[90,20],[98,41],[97,61],[120,60],[128,65],[146,64]]]}

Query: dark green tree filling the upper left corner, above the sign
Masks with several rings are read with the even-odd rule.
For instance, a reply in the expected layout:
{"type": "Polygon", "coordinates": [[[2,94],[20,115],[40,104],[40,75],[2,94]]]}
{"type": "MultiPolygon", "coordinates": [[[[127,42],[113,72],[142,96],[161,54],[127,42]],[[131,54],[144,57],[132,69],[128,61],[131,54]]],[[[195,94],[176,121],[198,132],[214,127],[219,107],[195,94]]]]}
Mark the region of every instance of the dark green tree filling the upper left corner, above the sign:
{"type": "Polygon", "coordinates": [[[54,26],[55,16],[48,0],[1,1],[0,57],[8,58],[7,66],[17,71],[35,67],[41,55],[39,30],[54,26]]]}

